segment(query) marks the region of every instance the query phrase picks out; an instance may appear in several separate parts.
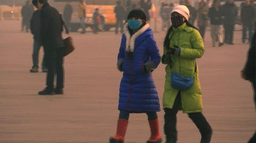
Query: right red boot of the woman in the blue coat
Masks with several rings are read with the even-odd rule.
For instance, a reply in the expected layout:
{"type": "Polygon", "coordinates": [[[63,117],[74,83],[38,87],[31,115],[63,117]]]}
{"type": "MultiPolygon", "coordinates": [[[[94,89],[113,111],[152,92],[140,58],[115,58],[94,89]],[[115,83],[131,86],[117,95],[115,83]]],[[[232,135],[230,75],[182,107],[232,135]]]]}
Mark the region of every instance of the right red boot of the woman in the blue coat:
{"type": "Polygon", "coordinates": [[[148,120],[151,136],[147,143],[161,143],[162,142],[162,136],[159,132],[159,120],[158,118],[155,120],[148,120]]]}

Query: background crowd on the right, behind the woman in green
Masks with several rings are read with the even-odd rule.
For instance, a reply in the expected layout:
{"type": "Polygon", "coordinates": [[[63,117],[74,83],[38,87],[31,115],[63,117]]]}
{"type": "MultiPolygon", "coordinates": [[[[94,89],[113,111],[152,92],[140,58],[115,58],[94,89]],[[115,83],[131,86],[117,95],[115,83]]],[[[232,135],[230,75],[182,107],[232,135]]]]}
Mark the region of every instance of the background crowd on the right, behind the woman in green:
{"type": "MultiPolygon", "coordinates": [[[[222,46],[224,43],[233,45],[233,33],[235,24],[242,25],[242,43],[249,43],[252,39],[252,33],[255,25],[255,6],[254,2],[244,0],[240,5],[240,21],[238,17],[239,7],[233,0],[227,0],[221,5],[219,0],[213,0],[212,6],[209,8],[210,0],[200,0],[198,8],[191,5],[191,0],[180,0],[180,5],[186,6],[190,11],[189,23],[197,27],[204,39],[207,26],[210,25],[212,47],[216,45],[222,46]],[[248,34],[247,34],[248,33],[248,34]]],[[[162,30],[169,28],[171,25],[170,11],[173,9],[173,3],[169,5],[162,2],[160,8],[160,16],[162,18],[162,30]]]]}

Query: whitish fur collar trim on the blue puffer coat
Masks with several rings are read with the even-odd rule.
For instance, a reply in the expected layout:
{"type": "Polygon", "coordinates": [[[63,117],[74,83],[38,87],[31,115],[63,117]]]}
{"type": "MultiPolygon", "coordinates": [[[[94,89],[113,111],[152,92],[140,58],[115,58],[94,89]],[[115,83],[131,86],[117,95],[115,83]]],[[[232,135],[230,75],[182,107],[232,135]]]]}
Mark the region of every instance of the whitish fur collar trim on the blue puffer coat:
{"type": "Polygon", "coordinates": [[[126,51],[134,51],[134,43],[135,39],[140,36],[142,33],[144,33],[147,28],[149,28],[149,24],[146,23],[140,30],[138,30],[136,33],[134,33],[131,37],[129,29],[128,29],[128,23],[124,25],[124,35],[126,36],[126,51]]]}

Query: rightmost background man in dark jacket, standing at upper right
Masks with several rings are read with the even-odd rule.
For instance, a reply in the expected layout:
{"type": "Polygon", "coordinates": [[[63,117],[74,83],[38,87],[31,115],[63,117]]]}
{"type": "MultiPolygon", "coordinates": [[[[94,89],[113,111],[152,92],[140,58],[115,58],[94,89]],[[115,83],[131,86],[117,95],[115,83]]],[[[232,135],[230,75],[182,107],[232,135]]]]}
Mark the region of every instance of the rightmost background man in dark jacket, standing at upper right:
{"type": "Polygon", "coordinates": [[[250,4],[250,0],[245,0],[241,8],[242,20],[242,42],[245,43],[247,37],[247,30],[249,31],[249,41],[252,40],[252,30],[254,26],[255,11],[254,7],[250,4]]]}

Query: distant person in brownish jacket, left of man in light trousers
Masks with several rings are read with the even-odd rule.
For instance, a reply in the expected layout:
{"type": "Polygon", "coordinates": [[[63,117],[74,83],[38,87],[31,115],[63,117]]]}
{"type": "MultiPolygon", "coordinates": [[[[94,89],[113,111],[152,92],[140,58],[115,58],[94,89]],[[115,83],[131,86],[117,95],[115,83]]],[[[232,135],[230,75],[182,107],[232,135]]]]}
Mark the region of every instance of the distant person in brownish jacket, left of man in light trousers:
{"type": "Polygon", "coordinates": [[[199,2],[197,26],[199,27],[200,35],[204,40],[204,34],[206,32],[206,27],[208,26],[208,6],[204,0],[199,2]]]}

